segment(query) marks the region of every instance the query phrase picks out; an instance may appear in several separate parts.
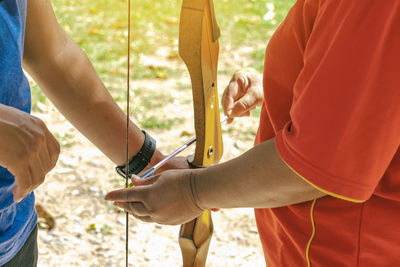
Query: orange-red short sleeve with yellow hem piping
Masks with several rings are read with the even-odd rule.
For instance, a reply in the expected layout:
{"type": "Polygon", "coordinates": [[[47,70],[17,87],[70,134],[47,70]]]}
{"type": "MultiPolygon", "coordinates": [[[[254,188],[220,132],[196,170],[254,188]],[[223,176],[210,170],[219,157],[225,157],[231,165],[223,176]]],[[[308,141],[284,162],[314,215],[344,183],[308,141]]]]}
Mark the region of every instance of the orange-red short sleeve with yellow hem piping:
{"type": "Polygon", "coordinates": [[[361,202],[400,144],[400,4],[326,2],[332,6],[317,16],[276,145],[310,184],[361,202]]]}

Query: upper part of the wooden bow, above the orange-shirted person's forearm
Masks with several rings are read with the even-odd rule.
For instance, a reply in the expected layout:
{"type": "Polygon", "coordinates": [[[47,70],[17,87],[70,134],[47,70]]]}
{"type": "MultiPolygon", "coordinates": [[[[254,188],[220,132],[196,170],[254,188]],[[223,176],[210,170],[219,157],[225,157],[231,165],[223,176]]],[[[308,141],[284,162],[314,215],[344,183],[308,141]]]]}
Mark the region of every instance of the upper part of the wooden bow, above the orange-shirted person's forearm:
{"type": "Polygon", "coordinates": [[[179,29],[179,55],[192,82],[196,150],[192,164],[217,163],[222,157],[217,66],[219,27],[211,0],[184,0],[179,29]]]}

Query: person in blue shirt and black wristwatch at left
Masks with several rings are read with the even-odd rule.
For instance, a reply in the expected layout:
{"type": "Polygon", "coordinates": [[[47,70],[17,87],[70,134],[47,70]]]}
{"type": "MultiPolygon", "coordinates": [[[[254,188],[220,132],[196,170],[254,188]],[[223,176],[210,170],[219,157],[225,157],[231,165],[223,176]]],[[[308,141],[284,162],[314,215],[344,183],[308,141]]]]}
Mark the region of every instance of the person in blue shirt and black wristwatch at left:
{"type": "MultiPolygon", "coordinates": [[[[117,165],[126,161],[126,116],[90,61],[56,21],[48,0],[0,0],[0,265],[36,266],[32,191],[55,166],[59,145],[30,115],[22,66],[63,115],[117,165]]],[[[129,157],[145,136],[130,124],[129,157]]],[[[164,156],[156,150],[149,166],[164,156]]],[[[169,168],[185,167],[183,161],[169,168]]]]}

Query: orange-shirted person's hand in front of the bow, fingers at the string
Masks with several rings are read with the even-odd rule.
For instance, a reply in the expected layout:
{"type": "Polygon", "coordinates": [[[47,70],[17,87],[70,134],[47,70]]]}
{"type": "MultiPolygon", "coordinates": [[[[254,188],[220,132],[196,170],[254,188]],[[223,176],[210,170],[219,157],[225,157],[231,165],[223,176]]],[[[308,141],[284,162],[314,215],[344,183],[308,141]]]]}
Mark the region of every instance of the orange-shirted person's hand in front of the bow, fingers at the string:
{"type": "Polygon", "coordinates": [[[192,194],[192,171],[170,170],[149,179],[132,176],[133,187],[109,192],[105,199],[145,222],[183,224],[203,212],[192,194]]]}

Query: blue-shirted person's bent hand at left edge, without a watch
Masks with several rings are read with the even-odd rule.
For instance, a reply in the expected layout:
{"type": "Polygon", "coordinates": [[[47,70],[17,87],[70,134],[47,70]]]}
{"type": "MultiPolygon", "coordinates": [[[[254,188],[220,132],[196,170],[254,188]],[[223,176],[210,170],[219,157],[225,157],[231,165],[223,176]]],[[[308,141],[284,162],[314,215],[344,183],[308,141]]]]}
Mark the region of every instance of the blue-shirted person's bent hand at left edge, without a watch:
{"type": "Polygon", "coordinates": [[[0,104],[0,166],[15,176],[14,201],[43,183],[60,145],[39,118],[0,104]]]}

